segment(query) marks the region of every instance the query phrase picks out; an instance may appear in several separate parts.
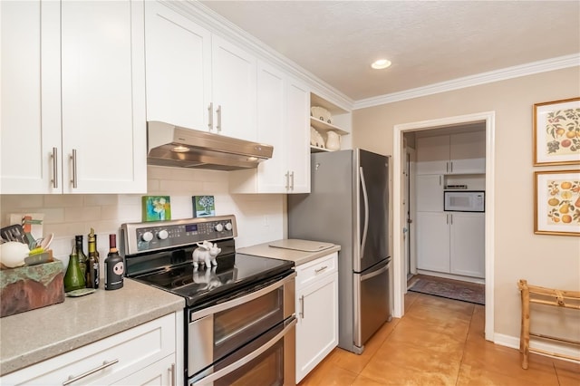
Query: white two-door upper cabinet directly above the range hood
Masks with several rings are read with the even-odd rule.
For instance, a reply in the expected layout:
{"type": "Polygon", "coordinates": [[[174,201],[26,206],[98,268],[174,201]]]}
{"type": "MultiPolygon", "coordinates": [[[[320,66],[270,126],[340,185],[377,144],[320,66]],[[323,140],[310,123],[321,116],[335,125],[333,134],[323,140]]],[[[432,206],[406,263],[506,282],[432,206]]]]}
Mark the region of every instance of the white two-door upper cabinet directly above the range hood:
{"type": "Polygon", "coordinates": [[[256,58],[167,5],[145,9],[147,119],[256,140],[256,58]]]}

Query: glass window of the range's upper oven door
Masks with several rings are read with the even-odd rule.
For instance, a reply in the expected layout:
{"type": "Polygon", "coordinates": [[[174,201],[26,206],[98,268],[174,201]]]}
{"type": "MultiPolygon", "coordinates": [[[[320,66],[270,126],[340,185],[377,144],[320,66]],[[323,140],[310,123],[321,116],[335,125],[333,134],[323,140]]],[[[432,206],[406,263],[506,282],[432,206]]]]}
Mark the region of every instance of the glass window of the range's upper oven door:
{"type": "Polygon", "coordinates": [[[214,360],[250,342],[284,320],[284,289],[214,314],[214,360]]]}

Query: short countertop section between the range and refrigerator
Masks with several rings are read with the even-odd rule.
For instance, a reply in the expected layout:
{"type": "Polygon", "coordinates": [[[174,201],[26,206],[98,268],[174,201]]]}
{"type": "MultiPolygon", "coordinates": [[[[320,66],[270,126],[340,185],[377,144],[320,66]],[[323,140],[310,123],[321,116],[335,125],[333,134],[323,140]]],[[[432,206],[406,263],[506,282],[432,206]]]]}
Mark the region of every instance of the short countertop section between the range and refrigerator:
{"type": "Polygon", "coordinates": [[[320,249],[314,243],[318,242],[298,239],[275,240],[256,246],[239,248],[237,252],[240,254],[277,258],[280,260],[291,260],[294,261],[295,265],[303,265],[318,257],[330,255],[341,249],[341,246],[329,243],[318,243],[319,245],[324,245],[323,247],[325,248],[320,249]]]}

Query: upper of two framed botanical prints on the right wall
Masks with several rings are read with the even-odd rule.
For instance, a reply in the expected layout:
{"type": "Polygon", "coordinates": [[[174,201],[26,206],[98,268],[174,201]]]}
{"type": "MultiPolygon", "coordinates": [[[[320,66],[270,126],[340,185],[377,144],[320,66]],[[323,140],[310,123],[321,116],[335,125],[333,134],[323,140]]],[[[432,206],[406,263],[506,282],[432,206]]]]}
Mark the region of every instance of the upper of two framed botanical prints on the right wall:
{"type": "Polygon", "coordinates": [[[534,104],[534,165],[580,164],[580,98],[534,104]]]}

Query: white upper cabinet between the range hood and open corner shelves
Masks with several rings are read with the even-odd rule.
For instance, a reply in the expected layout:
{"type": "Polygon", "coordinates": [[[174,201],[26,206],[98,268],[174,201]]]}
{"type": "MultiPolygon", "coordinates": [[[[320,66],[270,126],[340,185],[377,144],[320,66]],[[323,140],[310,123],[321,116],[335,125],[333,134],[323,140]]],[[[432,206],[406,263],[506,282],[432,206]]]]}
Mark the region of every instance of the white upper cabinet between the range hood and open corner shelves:
{"type": "Polygon", "coordinates": [[[274,153],[257,169],[231,171],[232,193],[310,192],[309,100],[304,84],[258,63],[257,140],[274,153]]]}

